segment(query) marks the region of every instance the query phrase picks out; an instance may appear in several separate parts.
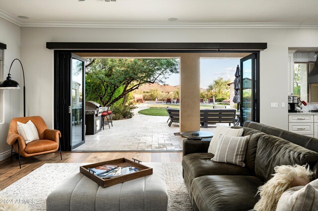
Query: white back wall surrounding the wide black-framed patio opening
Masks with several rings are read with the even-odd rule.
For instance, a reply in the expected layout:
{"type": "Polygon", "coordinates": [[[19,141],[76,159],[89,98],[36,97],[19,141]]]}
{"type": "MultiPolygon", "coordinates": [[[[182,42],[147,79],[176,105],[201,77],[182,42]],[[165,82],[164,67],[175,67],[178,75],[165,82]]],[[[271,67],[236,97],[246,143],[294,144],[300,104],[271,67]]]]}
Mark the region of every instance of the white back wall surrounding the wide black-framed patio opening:
{"type": "Polygon", "coordinates": [[[21,28],[27,115],[53,126],[53,50],[46,42],[265,42],[260,53],[260,122],[288,129],[288,47],[318,47],[317,29],[105,29],[21,28]],[[270,103],[279,108],[270,108],[270,103]]]}

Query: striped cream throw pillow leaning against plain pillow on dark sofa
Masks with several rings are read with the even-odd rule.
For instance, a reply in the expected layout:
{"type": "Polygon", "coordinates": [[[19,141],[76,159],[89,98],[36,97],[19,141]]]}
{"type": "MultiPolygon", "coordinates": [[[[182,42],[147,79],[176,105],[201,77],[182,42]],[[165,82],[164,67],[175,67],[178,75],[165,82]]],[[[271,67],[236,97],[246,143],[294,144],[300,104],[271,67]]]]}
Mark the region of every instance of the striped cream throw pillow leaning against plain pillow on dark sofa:
{"type": "Polygon", "coordinates": [[[249,136],[225,136],[220,135],[217,151],[213,161],[232,163],[245,166],[244,159],[249,136]]]}

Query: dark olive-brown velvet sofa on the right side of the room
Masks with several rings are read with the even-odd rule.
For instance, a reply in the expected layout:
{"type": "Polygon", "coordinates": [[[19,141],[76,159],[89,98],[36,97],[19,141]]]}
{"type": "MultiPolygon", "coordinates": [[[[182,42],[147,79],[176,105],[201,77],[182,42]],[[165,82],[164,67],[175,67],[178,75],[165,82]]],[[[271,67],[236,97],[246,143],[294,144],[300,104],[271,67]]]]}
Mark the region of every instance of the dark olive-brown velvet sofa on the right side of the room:
{"type": "MultiPolygon", "coordinates": [[[[234,126],[232,128],[242,128],[234,126]]],[[[247,211],[277,165],[308,163],[318,178],[318,139],[246,121],[245,167],[212,161],[209,141],[183,141],[183,178],[195,211],[247,211]],[[314,152],[313,152],[314,151],[314,152]]]]}

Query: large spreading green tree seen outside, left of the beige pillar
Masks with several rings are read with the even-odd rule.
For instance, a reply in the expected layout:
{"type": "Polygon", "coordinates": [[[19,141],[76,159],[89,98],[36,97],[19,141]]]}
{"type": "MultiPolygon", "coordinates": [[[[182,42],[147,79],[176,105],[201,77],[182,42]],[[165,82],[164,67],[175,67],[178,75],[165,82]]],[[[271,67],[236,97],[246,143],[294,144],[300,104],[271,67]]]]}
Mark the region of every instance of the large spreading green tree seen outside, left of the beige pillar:
{"type": "Polygon", "coordinates": [[[142,84],[163,83],[179,72],[178,64],[171,58],[86,59],[86,99],[112,105],[142,84]]]}

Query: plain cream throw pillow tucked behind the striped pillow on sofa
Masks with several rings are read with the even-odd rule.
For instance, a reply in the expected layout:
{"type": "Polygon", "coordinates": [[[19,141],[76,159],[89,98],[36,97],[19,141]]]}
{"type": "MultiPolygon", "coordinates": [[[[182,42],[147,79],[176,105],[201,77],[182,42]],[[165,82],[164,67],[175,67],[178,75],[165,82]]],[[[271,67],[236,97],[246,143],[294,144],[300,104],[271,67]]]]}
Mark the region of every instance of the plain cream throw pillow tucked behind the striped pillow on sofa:
{"type": "Polygon", "coordinates": [[[243,128],[233,129],[233,128],[217,125],[217,129],[215,130],[214,136],[210,142],[208,153],[212,153],[213,155],[215,155],[215,153],[217,152],[217,147],[218,147],[219,138],[221,134],[225,136],[242,136],[243,128]]]}

